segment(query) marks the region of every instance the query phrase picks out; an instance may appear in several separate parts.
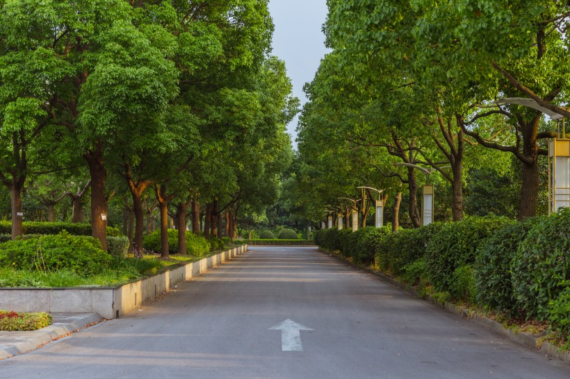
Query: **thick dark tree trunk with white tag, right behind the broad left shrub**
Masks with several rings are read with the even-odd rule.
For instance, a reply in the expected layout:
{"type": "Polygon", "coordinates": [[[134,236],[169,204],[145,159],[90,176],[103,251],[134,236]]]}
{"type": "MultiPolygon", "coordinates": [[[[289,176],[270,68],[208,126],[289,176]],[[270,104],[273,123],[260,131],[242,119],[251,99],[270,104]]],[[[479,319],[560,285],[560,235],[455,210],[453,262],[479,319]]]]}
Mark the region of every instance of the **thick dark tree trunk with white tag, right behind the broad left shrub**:
{"type": "Polygon", "coordinates": [[[106,170],[101,144],[95,150],[83,154],[89,165],[91,176],[91,228],[92,236],[101,241],[101,247],[107,251],[107,200],[105,194],[106,170]]]}

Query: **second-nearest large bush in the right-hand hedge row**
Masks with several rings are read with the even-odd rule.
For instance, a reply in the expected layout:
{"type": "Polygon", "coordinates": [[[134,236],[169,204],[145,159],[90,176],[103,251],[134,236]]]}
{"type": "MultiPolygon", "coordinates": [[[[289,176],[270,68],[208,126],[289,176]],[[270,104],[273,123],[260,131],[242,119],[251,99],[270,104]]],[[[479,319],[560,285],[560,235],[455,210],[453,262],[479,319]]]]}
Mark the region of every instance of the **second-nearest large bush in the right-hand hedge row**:
{"type": "Polygon", "coordinates": [[[512,287],[511,267],[519,244],[532,226],[532,220],[505,224],[480,244],[475,258],[477,302],[485,308],[516,314],[516,298],[512,287]]]}

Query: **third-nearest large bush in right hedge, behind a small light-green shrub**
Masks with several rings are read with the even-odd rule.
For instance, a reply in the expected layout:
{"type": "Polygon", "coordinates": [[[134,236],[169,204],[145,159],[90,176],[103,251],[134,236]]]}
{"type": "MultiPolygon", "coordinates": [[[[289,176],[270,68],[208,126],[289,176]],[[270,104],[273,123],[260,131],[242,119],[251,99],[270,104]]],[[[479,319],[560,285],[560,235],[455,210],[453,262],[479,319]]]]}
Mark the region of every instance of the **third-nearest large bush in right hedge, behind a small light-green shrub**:
{"type": "Polygon", "coordinates": [[[468,217],[463,221],[443,224],[430,238],[425,249],[425,263],[430,281],[439,292],[450,292],[453,273],[475,262],[475,252],[485,239],[501,228],[505,217],[468,217]]]}

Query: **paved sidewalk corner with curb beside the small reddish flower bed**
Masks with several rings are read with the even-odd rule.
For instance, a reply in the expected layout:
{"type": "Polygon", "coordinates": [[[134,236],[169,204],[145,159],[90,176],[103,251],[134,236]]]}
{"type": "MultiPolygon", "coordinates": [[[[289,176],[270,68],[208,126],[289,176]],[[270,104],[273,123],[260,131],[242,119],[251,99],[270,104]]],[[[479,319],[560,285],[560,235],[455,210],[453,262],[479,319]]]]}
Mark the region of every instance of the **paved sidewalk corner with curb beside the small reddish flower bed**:
{"type": "Polygon", "coordinates": [[[38,348],[103,319],[96,313],[54,313],[50,326],[33,332],[1,332],[0,360],[38,348]]]}

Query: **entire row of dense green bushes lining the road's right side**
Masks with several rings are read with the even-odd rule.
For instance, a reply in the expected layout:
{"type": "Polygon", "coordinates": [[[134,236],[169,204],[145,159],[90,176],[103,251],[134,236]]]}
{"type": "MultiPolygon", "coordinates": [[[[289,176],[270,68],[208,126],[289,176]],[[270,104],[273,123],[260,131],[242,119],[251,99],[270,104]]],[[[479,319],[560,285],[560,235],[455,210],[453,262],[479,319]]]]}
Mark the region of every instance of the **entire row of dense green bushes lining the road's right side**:
{"type": "Polygon", "coordinates": [[[570,209],[516,222],[503,217],[390,233],[325,229],[316,244],[437,292],[570,332],[570,209]]]}

